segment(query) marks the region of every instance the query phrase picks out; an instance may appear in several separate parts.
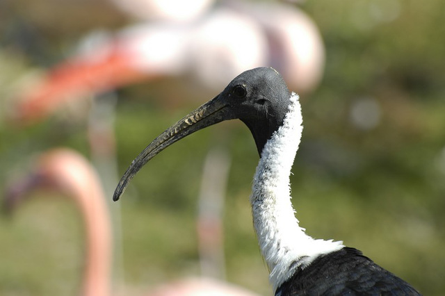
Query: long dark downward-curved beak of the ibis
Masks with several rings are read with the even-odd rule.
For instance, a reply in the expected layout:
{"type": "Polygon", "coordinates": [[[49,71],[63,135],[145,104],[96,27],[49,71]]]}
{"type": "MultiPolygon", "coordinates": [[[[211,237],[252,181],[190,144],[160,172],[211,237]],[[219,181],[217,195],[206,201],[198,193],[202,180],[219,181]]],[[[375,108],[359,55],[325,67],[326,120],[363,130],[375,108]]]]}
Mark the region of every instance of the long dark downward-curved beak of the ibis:
{"type": "Polygon", "coordinates": [[[211,99],[211,101],[208,101],[206,104],[186,115],[186,117],[161,133],[161,135],[140,152],[120,179],[113,195],[113,201],[117,201],[120,198],[131,179],[133,179],[133,176],[163,149],[195,131],[217,124],[218,122],[233,120],[235,118],[232,109],[229,108],[227,99],[221,94],[218,94],[218,96],[211,99]]]}

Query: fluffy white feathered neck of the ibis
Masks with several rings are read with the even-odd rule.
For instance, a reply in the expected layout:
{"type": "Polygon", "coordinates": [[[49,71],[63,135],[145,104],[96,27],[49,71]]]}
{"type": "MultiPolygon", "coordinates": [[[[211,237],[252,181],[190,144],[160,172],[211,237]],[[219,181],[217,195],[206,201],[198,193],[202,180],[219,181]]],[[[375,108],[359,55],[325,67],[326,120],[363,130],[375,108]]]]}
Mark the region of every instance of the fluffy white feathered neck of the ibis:
{"type": "Polygon", "coordinates": [[[321,254],[343,247],[342,242],[314,240],[307,236],[295,217],[289,175],[300,144],[302,116],[298,95],[292,93],[290,99],[284,124],[261,152],[250,196],[254,228],[274,291],[299,266],[305,267],[321,254]]]}

